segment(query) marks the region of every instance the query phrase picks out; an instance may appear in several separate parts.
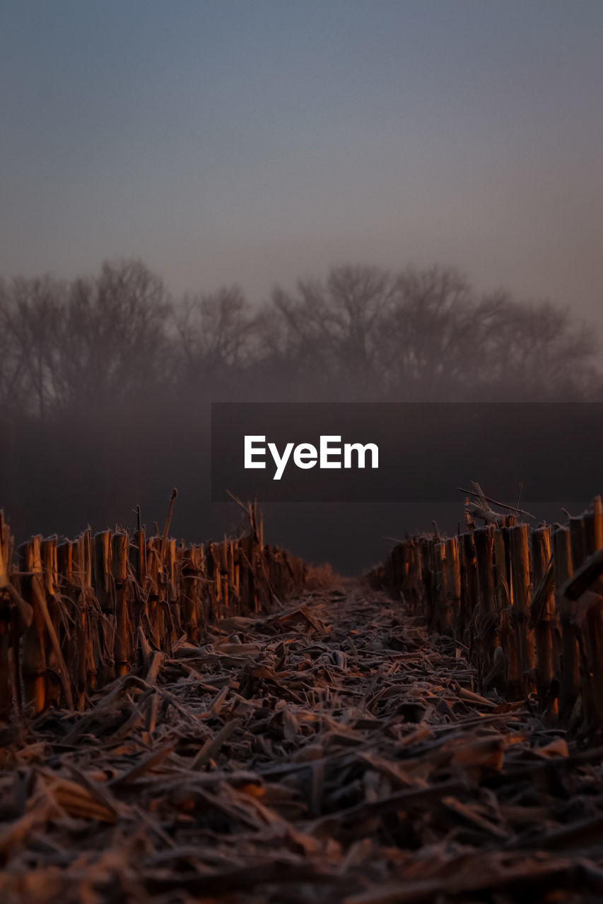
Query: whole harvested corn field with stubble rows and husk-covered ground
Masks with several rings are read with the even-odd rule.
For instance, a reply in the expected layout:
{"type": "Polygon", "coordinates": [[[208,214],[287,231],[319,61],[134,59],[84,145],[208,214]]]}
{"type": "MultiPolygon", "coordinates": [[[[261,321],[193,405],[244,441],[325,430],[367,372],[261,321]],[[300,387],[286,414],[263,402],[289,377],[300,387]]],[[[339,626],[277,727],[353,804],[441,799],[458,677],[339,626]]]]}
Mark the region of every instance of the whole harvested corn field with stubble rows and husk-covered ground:
{"type": "Polygon", "coordinates": [[[3,900],[600,899],[600,502],[552,542],[480,506],[359,579],[253,509],[195,573],[117,532],[55,586],[64,550],[16,570],[5,525],[3,900]]]}

